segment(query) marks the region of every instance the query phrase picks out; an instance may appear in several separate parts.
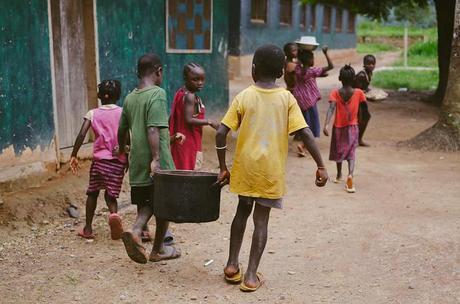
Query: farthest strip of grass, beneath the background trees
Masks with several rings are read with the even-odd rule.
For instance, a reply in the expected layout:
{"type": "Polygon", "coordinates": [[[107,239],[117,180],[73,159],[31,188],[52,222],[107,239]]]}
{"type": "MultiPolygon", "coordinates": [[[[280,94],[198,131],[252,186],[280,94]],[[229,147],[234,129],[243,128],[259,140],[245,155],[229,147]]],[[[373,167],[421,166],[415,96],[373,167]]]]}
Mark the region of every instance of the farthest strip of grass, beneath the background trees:
{"type": "MultiPolygon", "coordinates": [[[[404,35],[403,26],[389,26],[383,25],[377,21],[364,21],[358,24],[357,28],[358,36],[376,37],[402,37],[404,35]]],[[[434,40],[437,37],[436,28],[417,28],[409,27],[409,36],[428,36],[430,40],[434,40]]]]}

